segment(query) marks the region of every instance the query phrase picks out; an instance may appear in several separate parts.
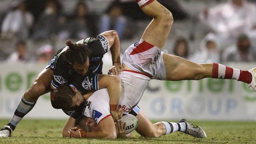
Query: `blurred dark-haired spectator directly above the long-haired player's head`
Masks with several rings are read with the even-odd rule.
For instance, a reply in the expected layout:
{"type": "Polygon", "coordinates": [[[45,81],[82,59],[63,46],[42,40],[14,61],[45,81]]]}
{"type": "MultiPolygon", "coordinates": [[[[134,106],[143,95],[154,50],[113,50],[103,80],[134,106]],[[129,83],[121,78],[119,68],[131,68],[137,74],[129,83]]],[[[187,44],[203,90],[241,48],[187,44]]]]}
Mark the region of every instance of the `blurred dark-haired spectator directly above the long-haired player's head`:
{"type": "Polygon", "coordinates": [[[69,25],[70,38],[85,39],[89,36],[88,9],[84,2],[80,1],[76,5],[73,18],[69,25]]]}

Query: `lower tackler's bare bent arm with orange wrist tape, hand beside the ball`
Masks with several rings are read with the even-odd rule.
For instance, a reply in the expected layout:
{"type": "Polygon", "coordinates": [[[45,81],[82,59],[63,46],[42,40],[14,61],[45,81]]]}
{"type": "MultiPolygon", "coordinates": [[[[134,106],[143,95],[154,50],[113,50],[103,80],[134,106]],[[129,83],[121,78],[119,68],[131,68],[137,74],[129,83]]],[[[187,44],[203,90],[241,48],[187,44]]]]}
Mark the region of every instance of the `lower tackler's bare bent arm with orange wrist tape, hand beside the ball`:
{"type": "Polygon", "coordinates": [[[110,98],[110,113],[115,121],[122,117],[121,113],[116,112],[116,107],[121,94],[121,80],[117,76],[100,74],[98,76],[98,89],[108,89],[110,98]]]}

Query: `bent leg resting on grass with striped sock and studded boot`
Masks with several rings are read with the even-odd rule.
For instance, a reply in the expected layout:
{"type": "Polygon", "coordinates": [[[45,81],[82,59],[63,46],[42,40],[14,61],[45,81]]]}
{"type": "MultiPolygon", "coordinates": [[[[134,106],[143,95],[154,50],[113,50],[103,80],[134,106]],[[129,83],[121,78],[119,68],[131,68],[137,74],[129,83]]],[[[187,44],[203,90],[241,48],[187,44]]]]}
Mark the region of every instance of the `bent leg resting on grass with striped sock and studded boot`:
{"type": "Polygon", "coordinates": [[[206,138],[206,134],[201,127],[194,126],[187,120],[180,120],[178,123],[157,122],[156,124],[152,124],[142,111],[139,112],[136,118],[138,119],[138,126],[135,130],[143,137],[157,138],[173,133],[174,131],[181,131],[193,137],[206,138]]]}

